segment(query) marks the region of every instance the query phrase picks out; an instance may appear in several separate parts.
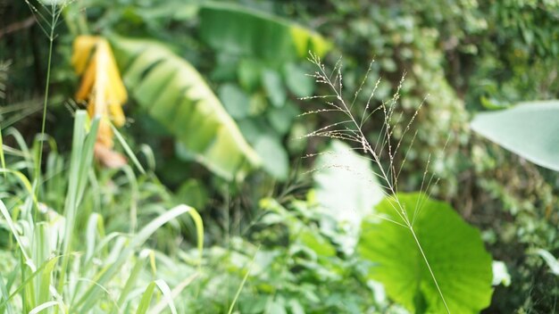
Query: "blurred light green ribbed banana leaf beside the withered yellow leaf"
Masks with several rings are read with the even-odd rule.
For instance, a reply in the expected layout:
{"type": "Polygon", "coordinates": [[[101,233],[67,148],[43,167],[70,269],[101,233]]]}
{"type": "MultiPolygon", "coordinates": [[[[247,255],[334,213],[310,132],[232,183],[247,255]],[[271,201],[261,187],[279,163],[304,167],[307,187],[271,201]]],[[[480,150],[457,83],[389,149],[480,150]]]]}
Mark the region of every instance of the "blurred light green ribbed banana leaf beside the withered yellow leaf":
{"type": "Polygon", "coordinates": [[[210,87],[187,61],[154,41],[113,37],[130,94],[222,178],[241,178],[260,158],[210,87]]]}

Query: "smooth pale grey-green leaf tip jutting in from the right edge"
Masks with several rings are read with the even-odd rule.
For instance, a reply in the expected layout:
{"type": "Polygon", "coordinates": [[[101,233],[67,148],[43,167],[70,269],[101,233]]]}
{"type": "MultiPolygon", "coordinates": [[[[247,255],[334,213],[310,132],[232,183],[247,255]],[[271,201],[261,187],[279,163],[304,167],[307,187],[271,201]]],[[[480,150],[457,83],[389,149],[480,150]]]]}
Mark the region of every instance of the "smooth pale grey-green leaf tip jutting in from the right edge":
{"type": "Polygon", "coordinates": [[[520,103],[483,112],[471,128],[538,166],[559,171],[559,101],[520,103]]]}

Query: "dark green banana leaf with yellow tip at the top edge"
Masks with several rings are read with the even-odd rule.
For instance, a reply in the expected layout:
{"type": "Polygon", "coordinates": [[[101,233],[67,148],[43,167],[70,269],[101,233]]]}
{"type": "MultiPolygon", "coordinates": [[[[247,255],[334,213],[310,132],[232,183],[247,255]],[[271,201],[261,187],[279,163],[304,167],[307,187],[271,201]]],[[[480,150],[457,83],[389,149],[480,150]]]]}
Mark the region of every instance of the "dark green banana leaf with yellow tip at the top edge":
{"type": "Polygon", "coordinates": [[[273,62],[326,54],[331,44],[311,29],[235,4],[204,3],[200,37],[216,51],[273,62]]]}

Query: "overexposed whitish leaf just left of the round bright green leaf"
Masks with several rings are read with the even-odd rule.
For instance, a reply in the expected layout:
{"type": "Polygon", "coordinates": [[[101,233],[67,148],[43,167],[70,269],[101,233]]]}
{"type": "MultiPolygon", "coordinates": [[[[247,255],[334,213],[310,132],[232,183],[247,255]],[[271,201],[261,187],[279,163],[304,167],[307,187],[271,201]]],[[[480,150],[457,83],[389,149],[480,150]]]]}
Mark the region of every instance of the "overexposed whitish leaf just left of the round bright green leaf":
{"type": "Polygon", "coordinates": [[[371,162],[354,153],[349,145],[334,140],[317,158],[314,168],[316,201],[346,227],[346,238],[336,238],[344,251],[351,253],[357,244],[361,220],[384,197],[371,162]]]}

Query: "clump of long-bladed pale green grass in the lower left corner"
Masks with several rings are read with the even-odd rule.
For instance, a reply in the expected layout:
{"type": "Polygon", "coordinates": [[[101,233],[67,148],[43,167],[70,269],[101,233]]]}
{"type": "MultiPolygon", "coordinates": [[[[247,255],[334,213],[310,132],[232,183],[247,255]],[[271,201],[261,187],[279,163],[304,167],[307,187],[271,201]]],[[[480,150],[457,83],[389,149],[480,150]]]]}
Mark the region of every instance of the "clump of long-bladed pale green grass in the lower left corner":
{"type": "MultiPolygon", "coordinates": [[[[98,202],[96,196],[102,193],[98,188],[93,191],[87,188],[88,184],[96,181],[95,174],[91,172],[91,162],[97,126],[98,119],[89,125],[87,113],[76,112],[69,170],[53,173],[58,163],[47,163],[49,169],[54,167],[47,171],[54,174],[50,179],[63,178],[62,189],[61,186],[47,185],[41,189],[43,192],[38,195],[38,199],[26,176],[15,170],[17,166],[12,169],[13,164],[17,165],[17,162],[13,163],[13,154],[17,152],[10,151],[7,158],[10,168],[1,169],[1,172],[21,181],[23,188],[14,189],[12,180],[4,180],[0,185],[3,191],[1,197],[7,200],[5,203],[0,200],[0,222],[3,229],[8,231],[6,237],[9,239],[3,250],[16,257],[13,269],[3,268],[0,273],[0,310],[15,313],[67,309],[90,313],[136,309],[139,300],[129,293],[138,287],[149,287],[145,283],[146,277],[140,274],[146,274],[147,258],[154,259],[153,252],[145,251],[146,241],[164,224],[185,213],[192,217],[196,226],[198,242],[194,265],[200,264],[204,229],[202,219],[191,207],[179,205],[163,211],[142,226],[138,233],[132,231],[129,234],[105,233],[103,217],[97,213],[88,215],[91,202],[98,202]],[[54,191],[58,191],[58,202],[52,199],[45,201],[61,204],[59,209],[63,208],[63,215],[44,202],[38,202],[43,201],[44,194],[52,195],[54,191]],[[76,253],[79,251],[82,253],[76,253]],[[126,269],[133,270],[128,272],[126,269]],[[112,292],[108,298],[104,298],[104,293],[108,293],[107,287],[112,292]]],[[[38,147],[36,145],[34,148],[38,147]]],[[[37,156],[34,153],[31,158],[37,156]]],[[[51,160],[51,156],[48,160],[51,160]]],[[[15,160],[20,158],[16,154],[15,160]]],[[[54,155],[52,158],[59,157],[54,155]]],[[[29,161],[29,164],[33,165],[34,162],[29,161]]],[[[28,172],[34,173],[32,169],[28,172]]],[[[136,193],[132,190],[131,194],[138,197],[136,193]]],[[[195,268],[190,270],[196,273],[195,268]]],[[[154,283],[162,290],[166,304],[173,310],[169,287],[163,280],[155,280],[154,283]]],[[[151,308],[149,302],[144,300],[146,298],[139,303],[151,308]]]]}

